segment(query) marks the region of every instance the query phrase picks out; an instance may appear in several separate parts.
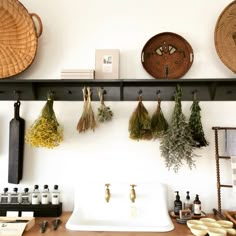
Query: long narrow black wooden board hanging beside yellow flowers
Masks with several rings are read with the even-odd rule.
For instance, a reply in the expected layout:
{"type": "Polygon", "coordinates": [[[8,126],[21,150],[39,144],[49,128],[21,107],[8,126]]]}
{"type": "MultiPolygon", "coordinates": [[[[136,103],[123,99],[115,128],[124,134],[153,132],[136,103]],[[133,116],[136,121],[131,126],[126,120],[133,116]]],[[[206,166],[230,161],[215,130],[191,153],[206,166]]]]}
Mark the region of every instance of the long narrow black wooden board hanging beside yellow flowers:
{"type": "Polygon", "coordinates": [[[23,175],[25,120],[20,117],[20,101],[14,103],[14,118],[10,121],[8,182],[18,184],[23,175]]]}

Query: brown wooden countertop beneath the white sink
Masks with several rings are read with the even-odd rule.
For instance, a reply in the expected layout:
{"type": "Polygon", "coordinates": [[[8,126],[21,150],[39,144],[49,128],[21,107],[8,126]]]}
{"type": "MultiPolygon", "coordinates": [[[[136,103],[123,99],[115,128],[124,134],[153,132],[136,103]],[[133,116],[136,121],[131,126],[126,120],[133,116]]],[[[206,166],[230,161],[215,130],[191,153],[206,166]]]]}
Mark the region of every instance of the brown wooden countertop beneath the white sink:
{"type": "MultiPolygon", "coordinates": [[[[98,231],[71,231],[66,229],[65,224],[68,221],[71,212],[64,212],[59,218],[61,219],[62,223],[59,225],[57,230],[53,230],[52,228],[52,221],[55,219],[54,217],[37,217],[35,221],[35,226],[30,229],[28,232],[24,232],[23,236],[37,236],[37,235],[48,235],[48,236],[73,236],[73,235],[81,235],[81,236],[96,236],[96,235],[103,235],[103,236],[139,236],[139,235],[180,235],[180,236],[192,236],[191,231],[187,227],[187,225],[179,224],[173,219],[173,224],[175,229],[169,232],[161,232],[161,233],[143,233],[143,232],[98,232],[98,231]],[[43,234],[40,232],[40,223],[43,220],[47,220],[49,226],[47,227],[46,232],[43,234]]],[[[214,218],[214,215],[209,215],[209,217],[214,218]]]]}

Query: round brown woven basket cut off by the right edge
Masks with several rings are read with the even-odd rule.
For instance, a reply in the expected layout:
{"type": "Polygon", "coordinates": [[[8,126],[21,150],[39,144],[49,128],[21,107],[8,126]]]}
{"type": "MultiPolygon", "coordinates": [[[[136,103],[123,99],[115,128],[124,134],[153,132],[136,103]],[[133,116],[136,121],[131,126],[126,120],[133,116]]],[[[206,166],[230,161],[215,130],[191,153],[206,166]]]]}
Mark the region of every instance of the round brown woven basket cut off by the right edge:
{"type": "Polygon", "coordinates": [[[221,61],[236,73],[236,1],[231,2],[217,20],[215,48],[221,61]]]}

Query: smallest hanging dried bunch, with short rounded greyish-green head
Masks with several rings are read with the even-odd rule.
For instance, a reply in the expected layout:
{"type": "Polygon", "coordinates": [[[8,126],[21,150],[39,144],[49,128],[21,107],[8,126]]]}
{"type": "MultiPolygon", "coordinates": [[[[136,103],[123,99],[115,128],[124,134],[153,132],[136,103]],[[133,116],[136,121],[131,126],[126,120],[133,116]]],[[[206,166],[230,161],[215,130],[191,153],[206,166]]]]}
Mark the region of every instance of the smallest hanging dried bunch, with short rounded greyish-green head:
{"type": "Polygon", "coordinates": [[[109,121],[113,117],[113,112],[110,107],[106,106],[104,103],[105,91],[103,88],[98,89],[98,97],[100,100],[100,107],[98,108],[97,119],[99,122],[109,121]]]}

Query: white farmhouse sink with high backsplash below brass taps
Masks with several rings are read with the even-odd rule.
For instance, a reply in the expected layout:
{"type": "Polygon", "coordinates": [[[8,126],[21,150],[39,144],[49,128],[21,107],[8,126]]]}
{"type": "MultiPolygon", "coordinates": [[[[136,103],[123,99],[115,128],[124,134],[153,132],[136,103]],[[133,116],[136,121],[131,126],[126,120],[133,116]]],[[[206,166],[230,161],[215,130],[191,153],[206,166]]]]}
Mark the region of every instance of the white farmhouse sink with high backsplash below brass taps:
{"type": "Polygon", "coordinates": [[[129,184],[111,185],[111,199],[105,202],[97,186],[77,191],[75,209],[66,228],[77,231],[166,232],[174,229],[166,205],[162,184],[137,184],[136,200],[129,199],[129,184]],[[93,190],[92,192],[90,190],[93,190]],[[86,195],[87,197],[81,196],[86,195]]]}

